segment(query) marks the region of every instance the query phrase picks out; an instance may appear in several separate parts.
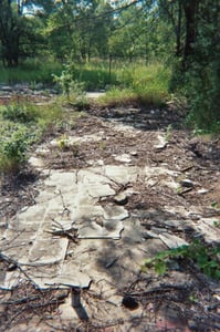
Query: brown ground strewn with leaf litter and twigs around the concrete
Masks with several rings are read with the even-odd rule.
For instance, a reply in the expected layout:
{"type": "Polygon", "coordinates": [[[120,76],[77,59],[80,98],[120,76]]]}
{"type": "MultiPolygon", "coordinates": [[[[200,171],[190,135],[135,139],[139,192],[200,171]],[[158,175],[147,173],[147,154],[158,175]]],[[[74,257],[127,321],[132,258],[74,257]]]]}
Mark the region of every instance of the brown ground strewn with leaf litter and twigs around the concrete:
{"type": "MultiPolygon", "coordinates": [[[[67,112],[71,117],[73,110],[70,107],[67,112]]],[[[151,185],[148,187],[139,178],[133,188],[137,195],[132,196],[126,208],[130,212],[143,214],[142,222],[146,229],[153,226],[163,229],[161,215],[166,215],[168,219],[181,218],[174,216],[171,209],[170,212],[165,209],[170,206],[184,206],[189,210],[191,206],[197,206],[200,216],[214,219],[220,216],[220,141],[217,137],[193,137],[184,128],[184,116],[171,106],[166,110],[146,110],[137,106],[99,108],[92,105],[73,126],[66,126],[66,129],[55,135],[83,137],[102,132],[102,141],[81,142],[74,148],[61,149],[56,146],[48,155],[45,167],[81,169],[87,167],[92,163],[90,160],[119,165],[122,162],[115,158],[118,155],[125,158],[127,155],[132,156],[130,166],[166,165],[168,169],[181,174],[179,181],[185,183],[180,190],[174,194],[170,188],[161,186],[163,178],[158,176],[151,176],[151,185]],[[121,125],[122,129],[114,129],[114,124],[117,124],[117,128],[121,125]],[[160,134],[166,136],[167,144],[156,147],[160,134]],[[186,179],[189,180],[188,185],[186,179]],[[157,210],[157,215],[145,214],[150,209],[157,210]]],[[[45,139],[45,145],[51,137],[45,139]]],[[[23,206],[34,205],[34,197],[38,195],[34,183],[40,177],[40,172],[30,166],[20,174],[2,177],[2,221],[23,206]]],[[[196,220],[199,217],[191,218],[196,220]]],[[[219,225],[213,227],[213,234],[214,229],[219,229],[219,225]]],[[[205,241],[201,235],[191,229],[182,231],[174,228],[172,232],[187,241],[195,238],[205,241]]],[[[1,257],[0,268],[10,270],[15,267],[1,257]]],[[[126,330],[124,322],[114,321],[114,317],[112,321],[101,320],[98,323],[82,320],[77,326],[60,322],[59,307],[64,303],[70,291],[41,291],[27,281],[12,291],[0,290],[0,331],[219,331],[218,282],[202,274],[190,260],[179,260],[178,270],[187,274],[185,284],[178,283],[177,274],[174,277],[172,271],[163,277],[154,272],[140,272],[138,278],[121,288],[122,304],[127,310],[135,312],[137,307],[142,307],[143,312],[147,313],[147,318],[143,315],[142,325],[140,319],[133,314],[129,330],[126,330]],[[146,291],[150,282],[156,287],[146,291]]],[[[90,290],[84,290],[82,297],[87,305],[96,310],[102,307],[102,297],[98,298],[90,290]]]]}

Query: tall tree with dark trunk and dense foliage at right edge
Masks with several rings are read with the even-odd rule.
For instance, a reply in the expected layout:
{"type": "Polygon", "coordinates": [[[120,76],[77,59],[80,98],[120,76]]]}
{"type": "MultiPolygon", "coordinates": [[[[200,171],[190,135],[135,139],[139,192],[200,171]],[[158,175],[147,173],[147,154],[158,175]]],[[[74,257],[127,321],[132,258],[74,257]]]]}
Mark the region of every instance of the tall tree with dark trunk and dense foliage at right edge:
{"type": "Polygon", "coordinates": [[[181,84],[191,106],[191,118],[199,127],[220,120],[220,2],[218,0],[160,0],[176,31],[175,89],[181,84]]]}

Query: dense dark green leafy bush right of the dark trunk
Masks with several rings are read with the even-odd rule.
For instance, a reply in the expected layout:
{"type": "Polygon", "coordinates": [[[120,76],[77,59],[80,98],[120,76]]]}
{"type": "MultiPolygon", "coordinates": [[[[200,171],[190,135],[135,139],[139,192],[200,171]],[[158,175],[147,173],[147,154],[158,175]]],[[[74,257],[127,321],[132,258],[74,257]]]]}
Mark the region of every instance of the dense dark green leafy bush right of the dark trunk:
{"type": "Polygon", "coordinates": [[[187,123],[197,132],[220,133],[220,20],[219,2],[197,7],[196,35],[191,51],[175,63],[172,89],[187,96],[187,123]]]}

